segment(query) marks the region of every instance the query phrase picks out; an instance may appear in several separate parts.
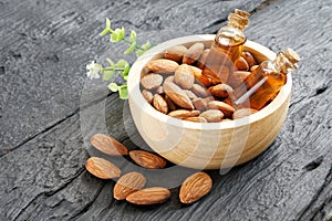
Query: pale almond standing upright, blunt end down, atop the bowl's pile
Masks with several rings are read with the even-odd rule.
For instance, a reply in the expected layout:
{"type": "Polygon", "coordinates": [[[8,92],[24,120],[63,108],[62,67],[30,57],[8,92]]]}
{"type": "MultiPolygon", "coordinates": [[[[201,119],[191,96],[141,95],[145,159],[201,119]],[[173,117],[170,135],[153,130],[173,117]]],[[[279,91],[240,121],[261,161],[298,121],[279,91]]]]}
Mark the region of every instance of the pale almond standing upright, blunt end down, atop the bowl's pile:
{"type": "Polygon", "coordinates": [[[190,90],[195,82],[195,76],[191,67],[187,64],[181,64],[175,71],[174,82],[184,90],[190,90]]]}

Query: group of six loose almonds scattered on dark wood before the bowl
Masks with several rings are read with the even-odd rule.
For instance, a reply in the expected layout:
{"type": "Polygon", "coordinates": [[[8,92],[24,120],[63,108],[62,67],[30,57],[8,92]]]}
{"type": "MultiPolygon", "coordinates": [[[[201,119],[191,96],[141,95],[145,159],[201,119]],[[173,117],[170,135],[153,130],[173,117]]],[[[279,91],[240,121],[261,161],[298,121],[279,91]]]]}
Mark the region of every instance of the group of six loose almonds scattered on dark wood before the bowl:
{"type": "MultiPolygon", "coordinates": [[[[146,169],[162,169],[166,160],[145,150],[131,150],[114,138],[96,134],[92,136],[91,144],[101,152],[108,156],[129,155],[134,162],[146,169]]],[[[100,179],[117,179],[113,197],[116,200],[126,200],[134,204],[163,203],[170,197],[170,191],[165,187],[148,187],[143,173],[131,171],[122,175],[122,170],[111,161],[91,157],[85,164],[86,170],[100,179]]],[[[196,172],[184,180],[179,190],[179,200],[183,203],[193,203],[206,196],[212,187],[212,180],[206,172],[196,172]]]]}

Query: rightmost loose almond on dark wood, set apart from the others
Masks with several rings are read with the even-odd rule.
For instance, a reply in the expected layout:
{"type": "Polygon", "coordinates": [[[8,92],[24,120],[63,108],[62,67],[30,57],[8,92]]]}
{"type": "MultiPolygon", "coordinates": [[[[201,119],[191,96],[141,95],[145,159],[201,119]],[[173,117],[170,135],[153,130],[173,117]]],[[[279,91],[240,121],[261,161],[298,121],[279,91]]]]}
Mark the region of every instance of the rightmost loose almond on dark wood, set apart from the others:
{"type": "Polygon", "coordinates": [[[193,203],[206,196],[212,188],[212,180],[206,172],[196,172],[188,177],[179,191],[183,203],[193,203]]]}

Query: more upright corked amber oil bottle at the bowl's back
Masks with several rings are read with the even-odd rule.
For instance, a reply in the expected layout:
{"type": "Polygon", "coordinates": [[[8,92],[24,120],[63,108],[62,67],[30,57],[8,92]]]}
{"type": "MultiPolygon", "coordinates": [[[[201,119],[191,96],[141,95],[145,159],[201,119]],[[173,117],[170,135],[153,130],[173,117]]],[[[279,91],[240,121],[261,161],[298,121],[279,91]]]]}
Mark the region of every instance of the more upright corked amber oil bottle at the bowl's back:
{"type": "Polygon", "coordinates": [[[235,71],[235,62],[240,57],[247,38],[243,30],[249,24],[250,14],[239,9],[228,17],[228,24],[216,34],[203,74],[215,82],[227,83],[235,71]]]}

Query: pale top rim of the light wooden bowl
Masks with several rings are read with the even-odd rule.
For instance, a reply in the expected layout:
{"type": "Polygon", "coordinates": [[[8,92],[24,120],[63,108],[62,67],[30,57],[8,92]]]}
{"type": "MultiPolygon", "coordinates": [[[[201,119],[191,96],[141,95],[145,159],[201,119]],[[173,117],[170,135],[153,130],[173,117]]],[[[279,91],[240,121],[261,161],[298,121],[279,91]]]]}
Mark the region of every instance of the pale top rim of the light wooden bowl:
{"type": "MultiPolygon", "coordinates": [[[[127,88],[128,88],[128,99],[129,105],[134,102],[137,106],[143,106],[146,114],[148,114],[151,117],[155,118],[156,120],[159,120],[165,124],[169,124],[176,127],[183,127],[188,129],[199,129],[199,130],[219,130],[219,129],[231,129],[231,128],[238,128],[242,126],[248,126],[255,122],[258,122],[268,115],[271,115],[276,109],[280,108],[282,104],[284,104],[286,99],[291,93],[292,87],[292,77],[291,74],[288,75],[287,83],[283,85],[279,94],[274,97],[274,99],[267,105],[264,108],[260,109],[259,112],[240,119],[235,119],[230,122],[220,122],[220,123],[194,123],[188,120],[181,120],[177,119],[175,117],[170,117],[168,115],[165,115],[158,110],[156,110],[151,104],[146,102],[146,99],[143,97],[141,90],[139,90],[139,81],[141,81],[141,73],[142,70],[145,67],[145,64],[156,54],[165,51],[166,49],[170,46],[175,46],[178,44],[186,44],[186,43],[194,43],[199,41],[212,41],[215,39],[215,34],[196,34],[196,35],[187,35],[187,36],[180,36],[176,39],[172,39],[168,41],[165,41],[160,44],[157,44],[156,46],[152,48],[147,52],[145,52],[143,55],[141,55],[132,65],[132,69],[128,74],[127,80],[127,88]]],[[[276,59],[276,53],[272,52],[270,49],[247,40],[245,48],[255,49],[256,51],[264,51],[263,55],[267,56],[269,60],[273,61],[276,59]]]]}

